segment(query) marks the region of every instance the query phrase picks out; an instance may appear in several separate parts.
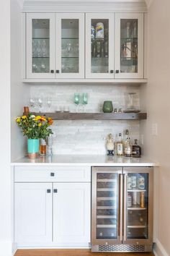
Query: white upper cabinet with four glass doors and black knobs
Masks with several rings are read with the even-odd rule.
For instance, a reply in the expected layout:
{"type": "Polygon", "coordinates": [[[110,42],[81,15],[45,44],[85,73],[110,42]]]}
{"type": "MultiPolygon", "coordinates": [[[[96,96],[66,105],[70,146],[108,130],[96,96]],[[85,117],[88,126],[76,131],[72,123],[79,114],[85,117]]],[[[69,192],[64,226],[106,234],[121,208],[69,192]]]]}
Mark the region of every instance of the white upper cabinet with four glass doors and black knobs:
{"type": "Polygon", "coordinates": [[[28,13],[25,82],[143,82],[143,23],[141,12],[28,13]]]}

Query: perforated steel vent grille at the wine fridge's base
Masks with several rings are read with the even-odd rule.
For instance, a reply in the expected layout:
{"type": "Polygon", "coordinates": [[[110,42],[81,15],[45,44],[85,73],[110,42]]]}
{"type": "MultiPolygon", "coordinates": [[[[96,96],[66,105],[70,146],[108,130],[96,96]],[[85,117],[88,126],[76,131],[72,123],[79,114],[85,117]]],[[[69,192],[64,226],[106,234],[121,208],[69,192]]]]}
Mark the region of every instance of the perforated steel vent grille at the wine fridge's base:
{"type": "Polygon", "coordinates": [[[145,252],[143,244],[99,245],[99,252],[145,252]]]}

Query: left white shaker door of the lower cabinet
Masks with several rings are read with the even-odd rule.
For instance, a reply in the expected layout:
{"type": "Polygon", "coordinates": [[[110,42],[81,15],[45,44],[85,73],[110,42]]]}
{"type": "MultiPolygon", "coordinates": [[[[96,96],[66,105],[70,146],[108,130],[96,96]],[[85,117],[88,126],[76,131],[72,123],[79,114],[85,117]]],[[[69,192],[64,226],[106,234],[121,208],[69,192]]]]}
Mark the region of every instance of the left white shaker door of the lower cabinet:
{"type": "Polygon", "coordinates": [[[52,183],[14,184],[14,241],[24,246],[52,241],[52,183]]]}

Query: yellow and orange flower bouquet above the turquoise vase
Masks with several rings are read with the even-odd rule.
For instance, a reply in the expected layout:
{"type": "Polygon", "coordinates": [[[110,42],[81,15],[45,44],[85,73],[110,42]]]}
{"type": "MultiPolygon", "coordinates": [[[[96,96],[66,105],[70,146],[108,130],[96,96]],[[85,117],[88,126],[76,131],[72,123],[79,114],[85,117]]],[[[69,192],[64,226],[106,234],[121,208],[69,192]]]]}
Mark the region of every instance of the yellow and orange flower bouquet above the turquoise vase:
{"type": "Polygon", "coordinates": [[[49,128],[53,124],[53,119],[44,116],[35,116],[28,114],[27,116],[19,116],[16,119],[17,124],[21,127],[23,135],[28,139],[46,139],[50,134],[53,134],[49,128]]]}

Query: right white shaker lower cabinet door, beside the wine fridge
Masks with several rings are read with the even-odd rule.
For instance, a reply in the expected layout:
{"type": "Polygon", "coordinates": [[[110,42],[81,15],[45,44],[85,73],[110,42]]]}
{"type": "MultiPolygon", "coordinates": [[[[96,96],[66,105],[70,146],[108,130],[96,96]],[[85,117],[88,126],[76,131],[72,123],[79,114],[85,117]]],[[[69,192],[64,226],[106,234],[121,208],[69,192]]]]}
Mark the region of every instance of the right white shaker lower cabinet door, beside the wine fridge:
{"type": "Polygon", "coordinates": [[[55,183],[53,237],[58,246],[89,246],[90,183],[55,183]]]}

